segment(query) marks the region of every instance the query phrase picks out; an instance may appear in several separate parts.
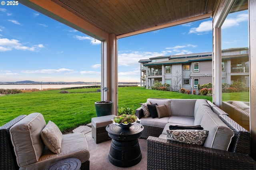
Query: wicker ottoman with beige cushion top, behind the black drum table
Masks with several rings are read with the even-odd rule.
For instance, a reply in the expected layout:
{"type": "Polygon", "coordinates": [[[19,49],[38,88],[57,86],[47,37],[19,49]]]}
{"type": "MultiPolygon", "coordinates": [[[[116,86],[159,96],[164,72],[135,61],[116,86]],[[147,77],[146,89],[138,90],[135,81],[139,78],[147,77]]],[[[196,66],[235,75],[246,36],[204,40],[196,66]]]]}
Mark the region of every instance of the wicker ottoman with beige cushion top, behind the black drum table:
{"type": "Polygon", "coordinates": [[[92,138],[96,143],[108,141],[111,138],[108,136],[106,126],[112,123],[116,115],[106,115],[92,118],[92,138]]]}

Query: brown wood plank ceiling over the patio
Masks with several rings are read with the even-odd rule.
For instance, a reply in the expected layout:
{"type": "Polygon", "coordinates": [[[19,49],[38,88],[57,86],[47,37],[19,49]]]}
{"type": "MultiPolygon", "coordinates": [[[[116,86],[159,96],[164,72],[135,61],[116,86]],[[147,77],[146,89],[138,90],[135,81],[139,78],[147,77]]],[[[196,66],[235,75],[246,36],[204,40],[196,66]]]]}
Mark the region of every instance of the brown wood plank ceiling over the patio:
{"type": "Polygon", "coordinates": [[[216,0],[52,0],[109,34],[122,35],[212,13],[216,0]]]}

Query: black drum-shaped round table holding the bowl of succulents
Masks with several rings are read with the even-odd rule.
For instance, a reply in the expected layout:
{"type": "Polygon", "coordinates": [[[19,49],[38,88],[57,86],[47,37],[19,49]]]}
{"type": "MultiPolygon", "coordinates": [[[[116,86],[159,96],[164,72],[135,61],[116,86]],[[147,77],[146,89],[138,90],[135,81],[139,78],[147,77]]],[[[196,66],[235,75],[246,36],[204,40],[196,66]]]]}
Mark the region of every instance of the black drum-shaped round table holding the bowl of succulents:
{"type": "Polygon", "coordinates": [[[110,124],[106,127],[112,138],[108,159],[118,167],[130,167],[138,164],[142,159],[138,138],[144,127],[135,123],[128,129],[110,124]]]}

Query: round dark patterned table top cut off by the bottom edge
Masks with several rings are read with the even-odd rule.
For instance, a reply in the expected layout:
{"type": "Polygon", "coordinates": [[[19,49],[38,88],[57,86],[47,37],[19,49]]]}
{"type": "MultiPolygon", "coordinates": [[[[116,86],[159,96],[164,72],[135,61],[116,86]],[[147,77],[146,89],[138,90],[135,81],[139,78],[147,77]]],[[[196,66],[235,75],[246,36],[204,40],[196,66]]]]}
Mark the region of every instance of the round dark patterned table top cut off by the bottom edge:
{"type": "Polygon", "coordinates": [[[46,170],[79,170],[81,161],[78,158],[65,158],[48,166],[46,170]]]}

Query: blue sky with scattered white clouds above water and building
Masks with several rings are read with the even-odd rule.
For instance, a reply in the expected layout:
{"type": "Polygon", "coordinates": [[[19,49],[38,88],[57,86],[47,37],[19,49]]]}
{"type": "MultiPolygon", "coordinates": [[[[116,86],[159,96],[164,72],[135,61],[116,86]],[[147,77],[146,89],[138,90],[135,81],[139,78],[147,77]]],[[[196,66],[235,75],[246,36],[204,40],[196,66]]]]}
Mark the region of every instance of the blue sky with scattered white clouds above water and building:
{"type": "MultiPolygon", "coordinates": [[[[228,16],[222,49],[248,47],[238,29],[247,31],[248,10],[228,16]]],[[[100,50],[100,41],[22,4],[0,6],[0,82],[100,82],[100,50]]],[[[211,51],[212,18],[118,39],[118,81],[140,82],[140,59],[211,51]]]]}

